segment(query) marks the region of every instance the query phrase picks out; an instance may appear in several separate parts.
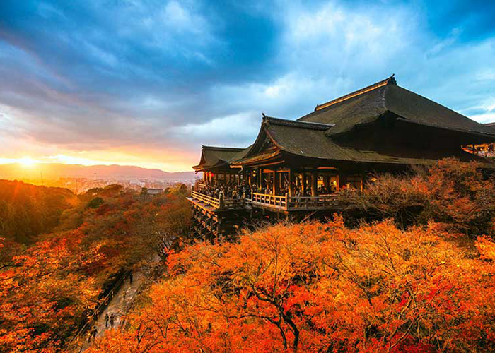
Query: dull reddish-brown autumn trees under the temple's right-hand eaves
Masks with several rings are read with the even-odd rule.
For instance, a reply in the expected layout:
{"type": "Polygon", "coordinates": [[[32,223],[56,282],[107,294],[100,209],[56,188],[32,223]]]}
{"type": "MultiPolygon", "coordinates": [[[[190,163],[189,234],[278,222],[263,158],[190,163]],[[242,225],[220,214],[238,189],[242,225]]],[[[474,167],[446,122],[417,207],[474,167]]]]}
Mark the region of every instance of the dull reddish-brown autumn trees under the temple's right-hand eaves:
{"type": "Polygon", "coordinates": [[[378,175],[363,193],[342,197],[368,217],[392,217],[401,227],[433,220],[453,234],[495,234],[495,182],[479,163],[448,158],[413,172],[378,175]]]}

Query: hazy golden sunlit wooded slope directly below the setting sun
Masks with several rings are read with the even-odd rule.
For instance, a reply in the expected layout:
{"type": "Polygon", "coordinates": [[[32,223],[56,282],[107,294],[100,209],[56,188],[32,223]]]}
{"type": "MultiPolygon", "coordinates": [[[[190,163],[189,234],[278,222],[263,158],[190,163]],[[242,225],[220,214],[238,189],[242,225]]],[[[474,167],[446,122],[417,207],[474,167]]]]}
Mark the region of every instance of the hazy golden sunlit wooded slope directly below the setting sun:
{"type": "Polygon", "coordinates": [[[0,180],[0,235],[29,244],[59,224],[64,210],[78,205],[69,189],[0,180]]]}

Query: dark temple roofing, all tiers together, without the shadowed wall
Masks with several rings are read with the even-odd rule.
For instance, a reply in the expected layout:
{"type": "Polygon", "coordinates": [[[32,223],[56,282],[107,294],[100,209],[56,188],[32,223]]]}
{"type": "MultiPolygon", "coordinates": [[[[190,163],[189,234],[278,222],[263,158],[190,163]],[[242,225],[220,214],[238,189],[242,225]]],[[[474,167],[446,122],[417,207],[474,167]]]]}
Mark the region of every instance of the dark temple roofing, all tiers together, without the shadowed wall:
{"type": "Polygon", "coordinates": [[[383,150],[383,146],[376,146],[373,150],[359,150],[336,142],[338,139],[335,136],[351,131],[354,126],[371,124],[380,119],[380,116],[391,116],[398,121],[460,131],[473,137],[483,136],[484,140],[495,140],[495,124],[479,124],[441,104],[401,88],[392,76],[349,95],[320,104],[314,112],[297,121],[263,116],[262,128],[255,144],[245,149],[203,146],[202,161],[194,169],[218,167],[229,163],[244,164],[273,157],[273,151],[267,155],[268,152],[260,150],[267,137],[265,134],[283,152],[320,160],[431,164],[444,157],[457,157],[463,161],[477,160],[486,163],[485,167],[495,166],[494,163],[460,148],[455,152],[445,152],[435,149],[411,150],[394,145],[391,150],[386,151],[383,150]]]}

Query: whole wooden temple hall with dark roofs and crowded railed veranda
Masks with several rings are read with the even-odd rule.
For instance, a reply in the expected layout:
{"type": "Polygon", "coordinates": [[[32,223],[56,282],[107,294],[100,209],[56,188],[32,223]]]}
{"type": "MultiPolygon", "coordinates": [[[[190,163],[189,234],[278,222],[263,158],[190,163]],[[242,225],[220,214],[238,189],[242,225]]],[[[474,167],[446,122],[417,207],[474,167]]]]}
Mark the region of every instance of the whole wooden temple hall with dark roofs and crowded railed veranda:
{"type": "Polygon", "coordinates": [[[256,215],[332,213],[335,195],[359,192],[380,172],[403,172],[445,157],[495,164],[465,145],[495,130],[385,80],[319,104],[297,120],[262,116],[248,148],[203,146],[204,180],[189,200],[200,236],[229,234],[256,215]]]}

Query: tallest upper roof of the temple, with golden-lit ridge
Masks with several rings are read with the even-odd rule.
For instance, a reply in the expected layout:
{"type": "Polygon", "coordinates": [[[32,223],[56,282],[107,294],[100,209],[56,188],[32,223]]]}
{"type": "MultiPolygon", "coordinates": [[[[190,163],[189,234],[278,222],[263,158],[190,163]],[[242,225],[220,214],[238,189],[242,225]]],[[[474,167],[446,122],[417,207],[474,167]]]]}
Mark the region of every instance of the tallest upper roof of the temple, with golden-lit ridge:
{"type": "Polygon", "coordinates": [[[392,112],[398,119],[414,124],[495,136],[489,126],[479,124],[467,116],[398,86],[393,76],[337,100],[318,105],[314,112],[298,121],[334,124],[335,126],[327,132],[328,136],[334,136],[347,133],[356,125],[373,123],[385,112],[392,112]]]}

